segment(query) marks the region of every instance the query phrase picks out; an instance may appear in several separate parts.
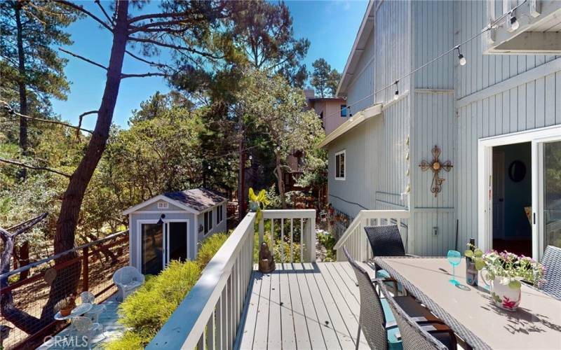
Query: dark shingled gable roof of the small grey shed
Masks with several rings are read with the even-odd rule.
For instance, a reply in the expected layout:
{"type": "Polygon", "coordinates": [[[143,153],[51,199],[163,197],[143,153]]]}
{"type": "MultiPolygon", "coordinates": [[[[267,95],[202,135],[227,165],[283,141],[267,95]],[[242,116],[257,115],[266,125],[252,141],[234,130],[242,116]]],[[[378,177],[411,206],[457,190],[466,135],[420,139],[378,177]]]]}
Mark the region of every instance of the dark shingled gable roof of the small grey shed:
{"type": "Polygon", "coordinates": [[[191,213],[200,214],[201,211],[205,211],[206,209],[214,207],[215,205],[226,202],[227,198],[206,188],[194,188],[191,190],[183,190],[164,193],[163,195],[157,195],[156,197],[152,197],[149,200],[135,205],[134,207],[126,209],[126,211],[123,211],[123,215],[131,214],[134,211],[146,207],[148,204],[157,202],[158,200],[169,202],[191,213]]]}

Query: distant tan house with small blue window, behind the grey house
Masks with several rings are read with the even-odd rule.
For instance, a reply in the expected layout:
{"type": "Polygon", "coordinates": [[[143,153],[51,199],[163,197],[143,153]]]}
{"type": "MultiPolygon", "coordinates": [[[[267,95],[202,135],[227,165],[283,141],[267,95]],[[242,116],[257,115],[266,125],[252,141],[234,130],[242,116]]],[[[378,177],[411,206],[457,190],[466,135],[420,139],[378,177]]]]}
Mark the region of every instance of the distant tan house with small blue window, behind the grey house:
{"type": "Polygon", "coordinates": [[[306,102],[309,109],[318,114],[325,130],[325,134],[331,134],[337,127],[342,125],[348,118],[345,99],[339,97],[316,97],[313,90],[304,90],[306,102]]]}

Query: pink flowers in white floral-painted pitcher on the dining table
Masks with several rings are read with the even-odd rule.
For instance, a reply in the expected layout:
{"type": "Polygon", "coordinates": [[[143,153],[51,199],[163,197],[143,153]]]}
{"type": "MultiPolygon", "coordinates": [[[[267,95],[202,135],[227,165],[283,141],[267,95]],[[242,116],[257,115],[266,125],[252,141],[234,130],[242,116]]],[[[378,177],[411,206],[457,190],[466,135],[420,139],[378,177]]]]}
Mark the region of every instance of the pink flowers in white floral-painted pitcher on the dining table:
{"type": "Polygon", "coordinates": [[[485,254],[478,248],[466,250],[466,257],[475,260],[475,268],[481,272],[483,282],[489,286],[497,307],[516,311],[522,297],[520,281],[539,286],[543,277],[543,265],[524,255],[504,251],[485,254]]]}

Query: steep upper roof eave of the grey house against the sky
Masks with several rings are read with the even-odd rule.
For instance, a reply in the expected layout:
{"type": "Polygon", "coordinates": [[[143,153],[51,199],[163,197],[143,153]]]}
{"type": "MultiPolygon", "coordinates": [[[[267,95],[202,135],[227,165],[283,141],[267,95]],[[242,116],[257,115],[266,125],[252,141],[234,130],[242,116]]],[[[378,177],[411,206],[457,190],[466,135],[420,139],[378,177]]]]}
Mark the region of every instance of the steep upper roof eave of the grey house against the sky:
{"type": "Polygon", "coordinates": [[[349,58],[346,59],[345,69],[341,75],[341,80],[339,80],[335,96],[346,97],[346,90],[349,87],[351,80],[353,80],[353,74],[355,73],[360,55],[362,55],[367,44],[368,34],[374,28],[374,3],[375,1],[372,0],[368,3],[368,7],[366,8],[366,12],[363,17],[363,22],[360,23],[360,27],[358,28],[353,48],[351,49],[349,58]]]}

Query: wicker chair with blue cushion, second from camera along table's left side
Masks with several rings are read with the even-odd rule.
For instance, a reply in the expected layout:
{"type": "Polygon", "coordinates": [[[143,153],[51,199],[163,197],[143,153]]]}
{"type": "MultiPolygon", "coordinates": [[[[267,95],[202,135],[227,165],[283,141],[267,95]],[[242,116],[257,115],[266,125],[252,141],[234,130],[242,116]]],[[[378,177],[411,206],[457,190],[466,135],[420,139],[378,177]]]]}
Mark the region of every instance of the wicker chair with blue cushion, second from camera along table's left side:
{"type": "MultiPolygon", "coordinates": [[[[370,279],[368,272],[351,257],[346,247],[343,248],[343,251],[356,274],[360,291],[360,316],[358,320],[358,335],[356,336],[356,349],[358,349],[360,342],[361,330],[372,349],[399,348],[401,341],[396,337],[396,333],[399,330],[388,302],[386,299],[379,297],[378,293],[376,293],[374,281],[370,279]]],[[[384,284],[382,282],[387,282],[386,279],[375,279],[375,281],[379,285],[384,284]]],[[[428,309],[425,309],[414,300],[413,297],[399,296],[395,300],[400,304],[400,307],[407,310],[410,316],[416,317],[419,323],[442,323],[428,309]]]]}

